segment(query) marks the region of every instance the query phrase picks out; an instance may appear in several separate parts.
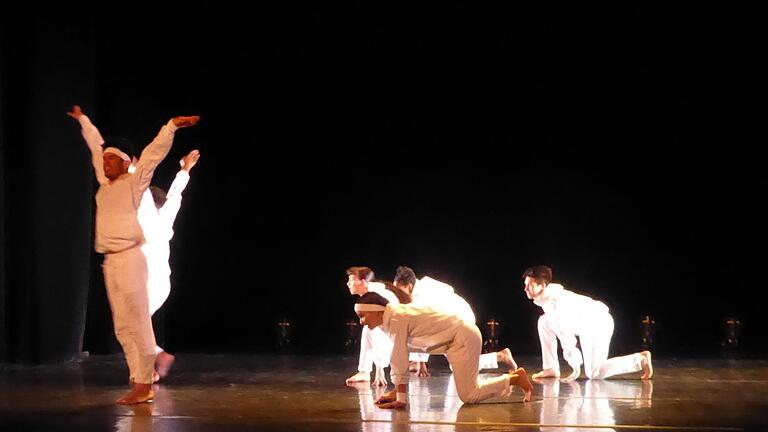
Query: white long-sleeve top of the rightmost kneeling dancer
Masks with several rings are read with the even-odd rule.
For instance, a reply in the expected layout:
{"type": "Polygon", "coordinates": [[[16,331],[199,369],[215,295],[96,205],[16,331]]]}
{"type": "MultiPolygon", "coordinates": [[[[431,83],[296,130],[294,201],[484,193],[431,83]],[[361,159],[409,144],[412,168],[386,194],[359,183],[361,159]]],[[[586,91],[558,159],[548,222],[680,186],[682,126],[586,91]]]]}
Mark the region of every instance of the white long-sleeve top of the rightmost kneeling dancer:
{"type": "Polygon", "coordinates": [[[585,295],[568,291],[562,285],[550,283],[543,294],[533,301],[553,318],[555,334],[563,348],[563,357],[571,368],[581,366],[581,352],[576,336],[591,334],[604,322],[608,306],[585,295]]]}

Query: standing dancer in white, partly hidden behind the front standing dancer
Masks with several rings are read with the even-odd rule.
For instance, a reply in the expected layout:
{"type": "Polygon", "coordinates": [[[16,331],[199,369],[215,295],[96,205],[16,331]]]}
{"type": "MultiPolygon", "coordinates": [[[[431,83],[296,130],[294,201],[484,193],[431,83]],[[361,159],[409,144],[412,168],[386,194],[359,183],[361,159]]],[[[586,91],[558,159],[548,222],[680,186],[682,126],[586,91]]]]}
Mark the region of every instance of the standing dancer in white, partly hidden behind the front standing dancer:
{"type": "MultiPolygon", "coordinates": [[[[179,161],[181,169],[166,193],[163,189],[150,186],[144,192],[139,206],[139,224],[144,231],[146,243],[141,246],[147,257],[147,293],[149,314],[154,315],[168,299],[171,292],[171,267],[168,264],[173,238],[173,223],[181,208],[181,193],[189,182],[189,173],[200,159],[200,152],[192,150],[179,161]]],[[[155,346],[155,374],[153,382],[165,378],[175,357],[160,346],[155,346]]]]}

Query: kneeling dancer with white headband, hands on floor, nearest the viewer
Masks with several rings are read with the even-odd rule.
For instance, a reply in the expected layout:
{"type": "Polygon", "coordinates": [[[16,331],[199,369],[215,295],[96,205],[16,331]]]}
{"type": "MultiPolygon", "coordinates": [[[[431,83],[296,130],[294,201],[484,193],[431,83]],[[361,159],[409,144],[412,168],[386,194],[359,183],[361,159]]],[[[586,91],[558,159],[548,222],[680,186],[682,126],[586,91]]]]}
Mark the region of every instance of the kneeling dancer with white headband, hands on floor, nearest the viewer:
{"type": "Polygon", "coordinates": [[[523,390],[523,401],[531,400],[531,385],[522,368],[488,380],[478,379],[478,358],[483,345],[480,330],[455,314],[427,307],[391,305],[376,293],[367,293],[355,304],[360,324],[381,328],[393,341],[391,376],[395,389],[376,400],[381,408],[403,408],[408,402],[408,353],[445,354],[453,370],[456,390],[464,403],[507,396],[512,386],[523,390]]]}

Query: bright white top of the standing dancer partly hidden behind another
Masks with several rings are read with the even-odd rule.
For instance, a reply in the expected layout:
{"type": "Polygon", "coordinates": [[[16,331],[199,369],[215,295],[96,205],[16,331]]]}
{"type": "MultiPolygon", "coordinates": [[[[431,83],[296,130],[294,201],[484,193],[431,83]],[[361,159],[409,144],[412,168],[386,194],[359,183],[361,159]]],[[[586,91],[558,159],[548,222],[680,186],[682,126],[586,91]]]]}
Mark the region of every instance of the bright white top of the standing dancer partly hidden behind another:
{"type": "Polygon", "coordinates": [[[146,240],[141,250],[147,257],[147,264],[162,266],[169,275],[171,269],[168,258],[171,249],[168,242],[173,238],[173,223],[181,208],[181,193],[187,187],[187,183],[189,183],[189,172],[179,170],[168,189],[166,201],[162,207],[158,209],[155,206],[152,192],[147,189],[144,191],[138,210],[139,225],[146,240]]]}

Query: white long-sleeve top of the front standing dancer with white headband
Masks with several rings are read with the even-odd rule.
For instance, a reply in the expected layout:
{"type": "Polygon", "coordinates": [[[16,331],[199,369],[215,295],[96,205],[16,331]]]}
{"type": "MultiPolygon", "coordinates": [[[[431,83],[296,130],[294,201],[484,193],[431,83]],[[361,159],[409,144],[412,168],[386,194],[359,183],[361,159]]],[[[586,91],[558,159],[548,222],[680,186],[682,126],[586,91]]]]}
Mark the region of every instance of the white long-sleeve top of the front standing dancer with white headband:
{"type": "Polygon", "coordinates": [[[96,192],[96,252],[120,252],[144,243],[137,210],[144,191],[152,181],[155,168],[165,158],[173,144],[176,125],[173,120],[160,129],[154,140],[144,148],[133,174],[123,174],[114,181],[104,176],[104,139],[86,115],[79,117],[83,138],[91,151],[91,159],[99,182],[96,192]]]}

